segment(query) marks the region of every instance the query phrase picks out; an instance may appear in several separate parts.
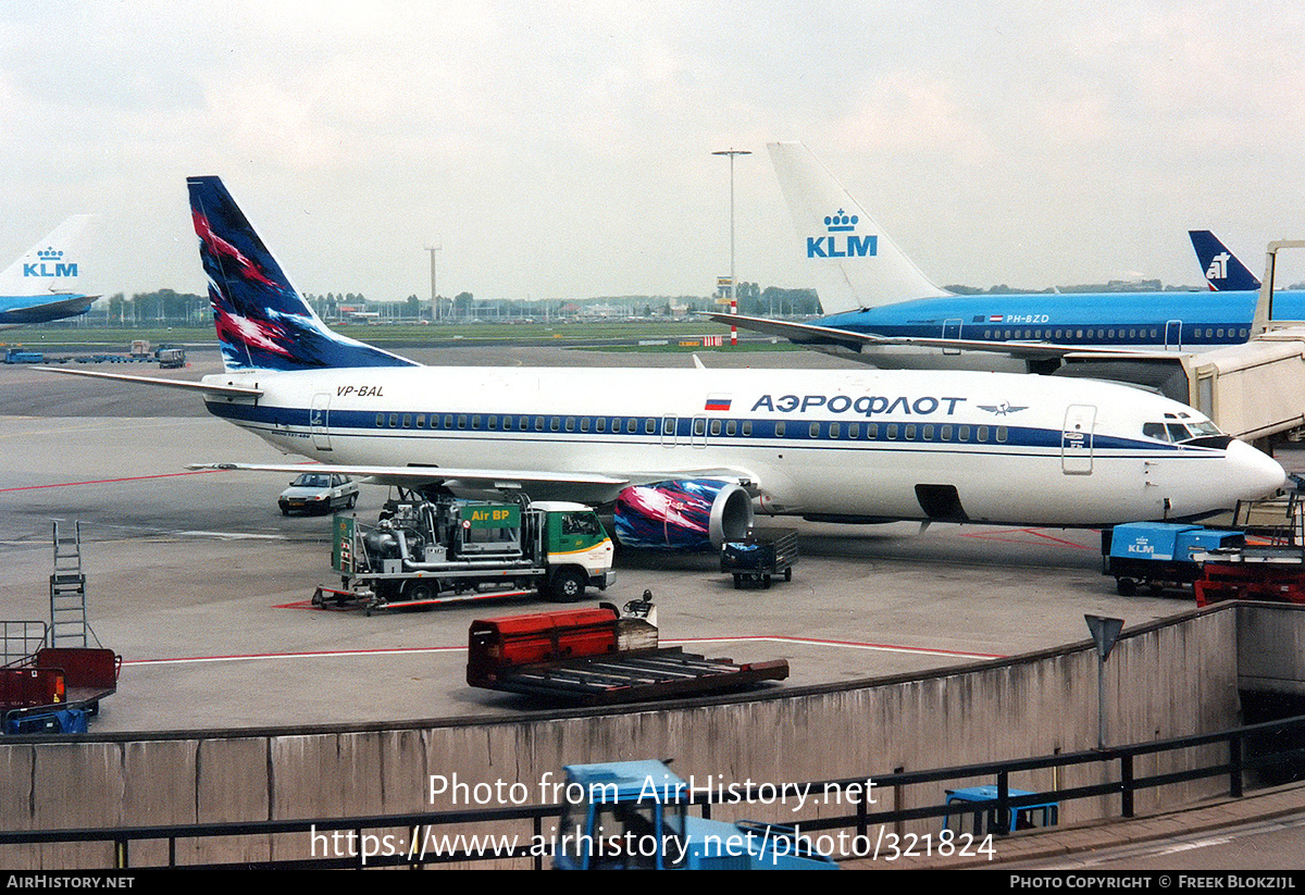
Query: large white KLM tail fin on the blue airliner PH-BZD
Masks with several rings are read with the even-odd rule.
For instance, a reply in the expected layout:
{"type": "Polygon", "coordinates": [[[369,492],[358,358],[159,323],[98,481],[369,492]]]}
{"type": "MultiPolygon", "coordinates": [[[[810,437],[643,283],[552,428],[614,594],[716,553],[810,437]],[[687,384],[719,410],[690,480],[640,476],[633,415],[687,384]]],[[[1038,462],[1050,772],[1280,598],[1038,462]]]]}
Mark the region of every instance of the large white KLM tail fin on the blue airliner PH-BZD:
{"type": "Polygon", "coordinates": [[[769,144],[770,160],[821,282],[826,314],[951,295],[934,286],[804,144],[769,144]]]}

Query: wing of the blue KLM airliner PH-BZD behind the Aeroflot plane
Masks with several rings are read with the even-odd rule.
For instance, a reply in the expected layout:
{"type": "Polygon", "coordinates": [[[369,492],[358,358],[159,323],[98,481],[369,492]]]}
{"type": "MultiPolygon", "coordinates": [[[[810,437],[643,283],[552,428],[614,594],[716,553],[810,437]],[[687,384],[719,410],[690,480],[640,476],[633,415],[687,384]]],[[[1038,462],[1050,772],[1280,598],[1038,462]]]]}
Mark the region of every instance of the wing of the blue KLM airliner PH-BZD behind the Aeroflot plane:
{"type": "Polygon", "coordinates": [[[853,333],[835,326],[817,326],[813,324],[797,324],[787,320],[769,320],[766,317],[745,317],[743,314],[707,314],[718,324],[741,326],[746,330],[779,335],[782,338],[804,347],[843,346],[851,351],[864,348],[914,346],[923,348],[945,348],[951,351],[987,351],[989,354],[1009,355],[1024,360],[1054,360],[1060,357],[1146,357],[1146,356],[1173,356],[1173,352],[1161,355],[1160,352],[1141,352],[1130,348],[1094,347],[1084,350],[1082,346],[1056,344],[1054,342],[987,342],[983,339],[944,339],[907,335],[876,335],[874,333],[853,333]]]}

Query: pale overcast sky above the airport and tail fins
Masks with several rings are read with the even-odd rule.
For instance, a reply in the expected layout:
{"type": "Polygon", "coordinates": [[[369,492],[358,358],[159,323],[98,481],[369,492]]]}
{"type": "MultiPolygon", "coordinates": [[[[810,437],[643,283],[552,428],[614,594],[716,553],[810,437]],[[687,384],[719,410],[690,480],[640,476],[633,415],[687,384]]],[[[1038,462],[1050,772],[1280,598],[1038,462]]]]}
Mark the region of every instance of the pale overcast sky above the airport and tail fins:
{"type": "Polygon", "coordinates": [[[202,292],[185,176],[369,299],[808,286],[805,142],[938,283],[1199,283],[1305,239],[1300,3],[0,0],[3,261],[94,211],[106,292],[202,292]]]}

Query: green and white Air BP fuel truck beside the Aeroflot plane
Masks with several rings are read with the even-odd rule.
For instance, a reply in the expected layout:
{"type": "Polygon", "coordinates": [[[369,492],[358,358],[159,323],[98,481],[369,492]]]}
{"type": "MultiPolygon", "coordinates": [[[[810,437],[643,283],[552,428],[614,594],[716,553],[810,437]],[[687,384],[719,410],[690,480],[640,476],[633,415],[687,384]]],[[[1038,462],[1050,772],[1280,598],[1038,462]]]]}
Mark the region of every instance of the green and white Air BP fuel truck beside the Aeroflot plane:
{"type": "Polygon", "coordinates": [[[579,600],[612,583],[612,539],[598,514],[565,501],[424,500],[402,492],[367,526],[334,521],[331,566],[342,591],[313,603],[376,609],[538,594],[579,600]]]}

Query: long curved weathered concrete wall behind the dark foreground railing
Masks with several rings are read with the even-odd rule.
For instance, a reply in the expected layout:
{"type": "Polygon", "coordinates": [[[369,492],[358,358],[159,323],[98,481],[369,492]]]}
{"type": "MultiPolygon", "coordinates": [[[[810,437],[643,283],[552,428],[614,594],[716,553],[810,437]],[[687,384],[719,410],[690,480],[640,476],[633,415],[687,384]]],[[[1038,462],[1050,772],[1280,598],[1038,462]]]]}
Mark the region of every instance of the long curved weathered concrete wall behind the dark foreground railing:
{"type": "MultiPolygon", "coordinates": [[[[1293,613],[1295,620],[1305,616],[1293,613]]],[[[1174,624],[1126,630],[1107,664],[1108,742],[1161,740],[1238,723],[1237,613],[1190,613],[1174,624]]],[[[1300,637],[1297,634],[1297,637],[1300,637]]],[[[561,766],[673,758],[680,776],[710,783],[784,783],[876,776],[1000,761],[1096,745],[1098,660],[1087,645],[967,665],[923,677],[780,690],[754,699],[713,699],[609,714],[573,711],[512,720],[432,720],[367,729],[313,728],[0,742],[5,830],[168,825],[269,818],[401,814],[466,808],[428,798],[431,775],[475,784],[523,784],[527,804],[547,798],[561,766]],[[551,775],[551,776],[549,776],[551,775]]],[[[1182,763],[1150,762],[1143,776],[1182,763]]],[[[1099,771],[1011,779],[1028,789],[1098,781],[1099,771]]],[[[990,783],[992,780],[981,780],[990,783]]],[[[946,785],[964,785],[963,781],[946,785]]],[[[1141,809],[1180,804],[1224,784],[1171,787],[1141,809]]],[[[484,789],[484,788],[482,788],[484,789]]],[[[518,796],[522,792],[518,788],[518,796]]],[[[472,800],[475,792],[467,793],[472,800]]],[[[480,795],[484,795],[483,792],[480,795]]],[[[878,792],[880,808],[897,793],[878,792]]],[[[917,787],[910,804],[942,801],[917,787]]],[[[492,796],[487,806],[510,801],[492,796]]],[[[902,802],[906,805],[907,802],[902,802]]],[[[818,812],[746,805],[756,819],[801,821],[818,812]]],[[[715,817],[731,817],[716,809],[715,817]]],[[[844,810],[830,810],[844,814],[844,810]]],[[[1062,822],[1108,813],[1077,801],[1062,822]]],[[[937,828],[936,823],[917,827],[937,828]]],[[[521,831],[529,835],[529,828],[521,831]]],[[[547,832],[547,831],[545,831],[547,832]]],[[[179,847],[181,862],[307,855],[307,835],[277,842],[179,847]]],[[[107,866],[104,845],[0,847],[17,868],[107,866]]],[[[163,845],[133,847],[132,864],[162,862],[163,845]]]]}

